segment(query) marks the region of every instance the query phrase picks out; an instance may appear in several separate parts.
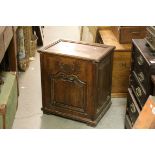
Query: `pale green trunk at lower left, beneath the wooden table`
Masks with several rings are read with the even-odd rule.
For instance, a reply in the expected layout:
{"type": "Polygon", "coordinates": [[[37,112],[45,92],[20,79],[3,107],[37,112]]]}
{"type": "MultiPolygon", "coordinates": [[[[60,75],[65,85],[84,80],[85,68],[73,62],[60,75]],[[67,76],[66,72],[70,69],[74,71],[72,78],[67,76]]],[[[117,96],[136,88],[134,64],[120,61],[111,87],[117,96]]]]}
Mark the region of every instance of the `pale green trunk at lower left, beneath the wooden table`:
{"type": "MultiPolygon", "coordinates": [[[[12,128],[17,109],[17,80],[12,72],[3,72],[4,84],[1,86],[0,104],[6,105],[6,128],[12,128]]],[[[0,115],[0,128],[3,121],[0,115]]]]}

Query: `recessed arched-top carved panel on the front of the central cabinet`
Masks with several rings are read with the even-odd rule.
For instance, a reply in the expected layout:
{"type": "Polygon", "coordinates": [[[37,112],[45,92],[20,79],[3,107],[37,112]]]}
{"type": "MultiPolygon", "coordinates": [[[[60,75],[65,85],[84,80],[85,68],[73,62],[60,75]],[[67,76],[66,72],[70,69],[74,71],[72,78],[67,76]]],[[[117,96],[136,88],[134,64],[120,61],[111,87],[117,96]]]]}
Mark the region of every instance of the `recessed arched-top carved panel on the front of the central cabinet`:
{"type": "Polygon", "coordinates": [[[75,75],[62,72],[50,75],[51,106],[69,110],[86,111],[86,83],[75,75]]]}

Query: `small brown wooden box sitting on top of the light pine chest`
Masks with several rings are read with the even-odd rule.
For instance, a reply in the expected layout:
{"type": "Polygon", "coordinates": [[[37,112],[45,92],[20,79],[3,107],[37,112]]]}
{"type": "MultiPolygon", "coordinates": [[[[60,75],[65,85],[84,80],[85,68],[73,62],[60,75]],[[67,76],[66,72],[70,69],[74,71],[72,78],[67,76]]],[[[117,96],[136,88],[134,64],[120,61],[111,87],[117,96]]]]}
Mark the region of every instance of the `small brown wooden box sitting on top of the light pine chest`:
{"type": "Polygon", "coordinates": [[[132,39],[143,39],[146,35],[145,26],[112,26],[111,29],[120,44],[131,43],[132,39]]]}

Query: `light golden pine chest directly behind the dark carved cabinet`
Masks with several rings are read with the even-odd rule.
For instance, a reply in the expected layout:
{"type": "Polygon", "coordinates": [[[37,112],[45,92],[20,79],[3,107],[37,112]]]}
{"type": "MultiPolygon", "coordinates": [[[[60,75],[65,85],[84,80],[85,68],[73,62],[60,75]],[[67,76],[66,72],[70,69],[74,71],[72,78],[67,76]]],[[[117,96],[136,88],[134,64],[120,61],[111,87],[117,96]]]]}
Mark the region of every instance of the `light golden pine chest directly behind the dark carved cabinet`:
{"type": "Polygon", "coordinates": [[[99,31],[102,43],[116,46],[113,58],[112,97],[126,97],[131,67],[131,44],[120,44],[111,30],[99,31]]]}

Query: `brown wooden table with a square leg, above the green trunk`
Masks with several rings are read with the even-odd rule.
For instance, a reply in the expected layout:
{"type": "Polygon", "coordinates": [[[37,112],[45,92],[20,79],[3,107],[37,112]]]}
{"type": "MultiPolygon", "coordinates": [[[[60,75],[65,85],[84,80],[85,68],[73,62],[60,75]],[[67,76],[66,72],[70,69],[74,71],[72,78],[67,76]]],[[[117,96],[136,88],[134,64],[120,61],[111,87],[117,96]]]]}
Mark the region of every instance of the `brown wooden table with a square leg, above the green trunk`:
{"type": "Polygon", "coordinates": [[[0,27],[0,64],[4,70],[18,72],[16,27],[0,27]]]}

